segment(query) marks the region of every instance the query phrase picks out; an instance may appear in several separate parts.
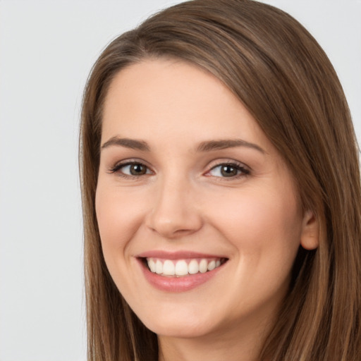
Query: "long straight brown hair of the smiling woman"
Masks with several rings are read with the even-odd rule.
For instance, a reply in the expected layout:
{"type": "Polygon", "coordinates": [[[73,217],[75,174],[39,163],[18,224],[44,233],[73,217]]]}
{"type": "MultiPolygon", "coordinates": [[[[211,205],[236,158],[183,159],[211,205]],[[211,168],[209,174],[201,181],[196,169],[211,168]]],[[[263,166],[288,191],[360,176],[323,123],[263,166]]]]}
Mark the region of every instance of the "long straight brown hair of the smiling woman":
{"type": "Polygon", "coordinates": [[[358,149],[334,68],[300,23],[250,0],[195,0],[116,38],[85,88],[80,173],[85,226],[88,360],[157,360],[157,336],[106,269],[94,211],[104,97],[114,75],[176,57],[216,75],[240,99],[293,172],[319,247],[300,248],[283,307],[259,355],[269,361],[361,359],[361,190],[358,149]]]}

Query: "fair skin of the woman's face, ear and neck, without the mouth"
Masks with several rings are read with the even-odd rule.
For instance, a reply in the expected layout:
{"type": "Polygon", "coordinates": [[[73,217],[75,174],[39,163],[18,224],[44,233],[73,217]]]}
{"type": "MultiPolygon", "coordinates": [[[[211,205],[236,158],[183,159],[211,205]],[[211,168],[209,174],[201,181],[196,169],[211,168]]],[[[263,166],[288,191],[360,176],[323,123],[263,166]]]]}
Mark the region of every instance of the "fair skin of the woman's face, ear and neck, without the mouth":
{"type": "Polygon", "coordinates": [[[96,212],[104,257],[130,307],[158,335],[159,360],[257,360],[298,247],[318,242],[282,157],[220,80],[183,61],[145,60],[120,71],[103,115],[96,212]],[[235,139],[247,143],[197,149],[235,139]],[[146,173],[111,171],[127,161],[146,173]],[[224,176],[219,164],[229,163],[242,169],[224,176]],[[228,261],[206,283],[173,293],[145,279],[137,255],[149,250],[228,261]]]}

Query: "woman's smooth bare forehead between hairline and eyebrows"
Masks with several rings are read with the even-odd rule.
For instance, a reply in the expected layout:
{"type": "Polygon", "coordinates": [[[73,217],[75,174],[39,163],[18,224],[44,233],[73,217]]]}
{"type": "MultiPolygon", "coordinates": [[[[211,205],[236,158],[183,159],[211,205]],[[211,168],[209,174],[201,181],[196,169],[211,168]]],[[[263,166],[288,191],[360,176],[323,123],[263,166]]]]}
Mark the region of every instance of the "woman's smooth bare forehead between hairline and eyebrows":
{"type": "Polygon", "coordinates": [[[105,99],[102,141],[114,136],[154,142],[243,137],[270,146],[257,121],[221,80],[169,59],[135,63],[115,76],[105,99]]]}

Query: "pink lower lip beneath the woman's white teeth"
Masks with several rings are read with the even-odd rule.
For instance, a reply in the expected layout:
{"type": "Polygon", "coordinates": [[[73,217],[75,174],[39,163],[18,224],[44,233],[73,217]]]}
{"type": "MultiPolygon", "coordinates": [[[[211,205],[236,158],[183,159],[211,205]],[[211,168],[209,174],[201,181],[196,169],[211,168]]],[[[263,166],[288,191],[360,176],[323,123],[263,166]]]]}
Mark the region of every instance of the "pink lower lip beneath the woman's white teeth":
{"type": "Polygon", "coordinates": [[[142,267],[143,274],[147,281],[157,288],[158,290],[164,290],[166,292],[185,292],[188,290],[192,290],[203,283],[206,283],[212,277],[216,276],[220,269],[224,266],[221,266],[212,269],[212,271],[204,272],[204,274],[197,273],[197,274],[190,274],[189,276],[182,276],[182,277],[171,277],[171,276],[160,276],[159,274],[153,273],[149,271],[147,266],[138,259],[140,266],[142,267]]]}

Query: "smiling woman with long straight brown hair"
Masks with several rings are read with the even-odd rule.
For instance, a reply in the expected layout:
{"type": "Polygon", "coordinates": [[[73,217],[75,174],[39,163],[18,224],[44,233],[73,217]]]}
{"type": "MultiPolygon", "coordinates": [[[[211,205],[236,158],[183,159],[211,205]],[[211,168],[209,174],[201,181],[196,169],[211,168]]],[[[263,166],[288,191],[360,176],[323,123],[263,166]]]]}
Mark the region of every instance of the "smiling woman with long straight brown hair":
{"type": "Polygon", "coordinates": [[[89,360],[359,360],[348,106],[296,20],[173,6],[95,63],[81,126],[89,360]]]}

